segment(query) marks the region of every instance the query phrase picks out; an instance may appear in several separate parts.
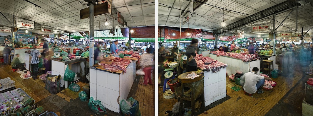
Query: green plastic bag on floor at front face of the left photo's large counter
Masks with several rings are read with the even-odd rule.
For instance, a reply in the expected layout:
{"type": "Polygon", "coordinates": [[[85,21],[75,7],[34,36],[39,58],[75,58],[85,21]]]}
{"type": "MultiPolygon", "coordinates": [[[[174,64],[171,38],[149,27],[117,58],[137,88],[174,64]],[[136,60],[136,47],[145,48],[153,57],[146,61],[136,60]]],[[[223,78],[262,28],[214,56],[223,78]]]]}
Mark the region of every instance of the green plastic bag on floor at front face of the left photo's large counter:
{"type": "Polygon", "coordinates": [[[100,115],[106,114],[105,107],[101,104],[101,101],[94,100],[93,97],[90,98],[88,106],[93,112],[97,114],[100,114],[100,115]]]}

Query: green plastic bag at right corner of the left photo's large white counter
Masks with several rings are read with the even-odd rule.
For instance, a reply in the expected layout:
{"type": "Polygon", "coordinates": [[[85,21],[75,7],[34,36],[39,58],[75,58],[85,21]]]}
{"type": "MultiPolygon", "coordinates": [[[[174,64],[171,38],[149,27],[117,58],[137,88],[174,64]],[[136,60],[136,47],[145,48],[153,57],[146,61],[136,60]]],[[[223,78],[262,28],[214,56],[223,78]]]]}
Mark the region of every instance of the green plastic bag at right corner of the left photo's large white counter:
{"type": "Polygon", "coordinates": [[[122,111],[122,115],[127,116],[141,116],[140,110],[139,110],[139,102],[136,99],[133,99],[130,97],[129,99],[125,100],[122,99],[120,103],[120,109],[122,111]],[[127,104],[130,103],[130,104],[127,104]]]}

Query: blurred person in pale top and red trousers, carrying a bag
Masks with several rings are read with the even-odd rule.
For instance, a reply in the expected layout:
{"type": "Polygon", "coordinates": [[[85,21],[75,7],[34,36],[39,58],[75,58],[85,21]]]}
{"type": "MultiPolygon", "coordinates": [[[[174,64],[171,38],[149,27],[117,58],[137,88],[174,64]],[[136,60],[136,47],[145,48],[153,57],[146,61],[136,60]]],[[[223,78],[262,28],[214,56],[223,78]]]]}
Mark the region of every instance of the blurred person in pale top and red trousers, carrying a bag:
{"type": "Polygon", "coordinates": [[[145,72],[144,82],[140,83],[141,85],[152,85],[152,78],[151,78],[151,70],[154,67],[153,55],[150,53],[150,48],[146,48],[146,53],[142,54],[140,57],[140,64],[141,68],[145,72]]]}

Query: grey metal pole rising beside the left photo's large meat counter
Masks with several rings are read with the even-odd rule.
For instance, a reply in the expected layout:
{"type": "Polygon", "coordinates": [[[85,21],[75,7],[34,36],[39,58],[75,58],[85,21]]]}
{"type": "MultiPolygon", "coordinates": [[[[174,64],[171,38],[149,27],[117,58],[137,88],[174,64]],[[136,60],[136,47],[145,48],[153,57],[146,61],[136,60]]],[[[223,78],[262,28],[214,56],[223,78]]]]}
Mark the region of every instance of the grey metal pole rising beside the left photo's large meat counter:
{"type": "Polygon", "coordinates": [[[89,3],[89,66],[94,65],[94,5],[95,3],[89,3]]]}

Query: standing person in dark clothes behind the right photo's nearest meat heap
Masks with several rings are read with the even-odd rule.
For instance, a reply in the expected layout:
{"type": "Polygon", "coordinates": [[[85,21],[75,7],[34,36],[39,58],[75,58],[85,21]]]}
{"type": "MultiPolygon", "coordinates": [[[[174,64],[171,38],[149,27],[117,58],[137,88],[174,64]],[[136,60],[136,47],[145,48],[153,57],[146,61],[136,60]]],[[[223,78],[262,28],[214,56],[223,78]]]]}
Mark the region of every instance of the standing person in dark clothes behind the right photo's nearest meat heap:
{"type": "Polygon", "coordinates": [[[191,45],[187,47],[186,56],[187,56],[187,71],[197,71],[197,62],[193,57],[196,56],[196,47],[198,46],[198,40],[192,39],[191,45]]]}

